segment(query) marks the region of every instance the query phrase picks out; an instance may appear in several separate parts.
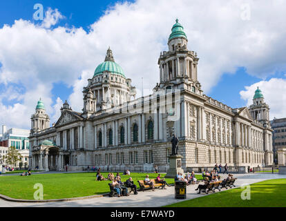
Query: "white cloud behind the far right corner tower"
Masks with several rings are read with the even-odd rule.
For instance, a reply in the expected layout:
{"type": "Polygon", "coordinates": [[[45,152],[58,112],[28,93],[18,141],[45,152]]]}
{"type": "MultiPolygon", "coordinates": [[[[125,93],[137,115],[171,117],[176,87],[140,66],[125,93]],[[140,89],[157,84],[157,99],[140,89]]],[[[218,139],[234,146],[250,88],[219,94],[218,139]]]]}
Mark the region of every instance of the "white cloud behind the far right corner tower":
{"type": "Polygon", "coordinates": [[[286,110],[286,79],[272,78],[269,81],[259,81],[251,86],[245,86],[245,90],[240,91],[240,97],[247,101],[247,106],[253,104],[254,92],[257,87],[262,90],[264,100],[269,104],[270,119],[285,117],[286,110]]]}

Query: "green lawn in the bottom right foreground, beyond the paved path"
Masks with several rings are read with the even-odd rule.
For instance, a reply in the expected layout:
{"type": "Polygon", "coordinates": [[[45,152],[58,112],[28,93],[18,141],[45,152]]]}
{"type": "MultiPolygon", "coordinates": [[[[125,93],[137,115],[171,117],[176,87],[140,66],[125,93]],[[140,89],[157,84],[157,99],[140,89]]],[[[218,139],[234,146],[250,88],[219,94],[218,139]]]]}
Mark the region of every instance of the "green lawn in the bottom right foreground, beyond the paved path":
{"type": "Polygon", "coordinates": [[[166,207],[285,207],[286,179],[251,184],[251,200],[242,200],[243,189],[236,188],[168,205],[166,207]]]}

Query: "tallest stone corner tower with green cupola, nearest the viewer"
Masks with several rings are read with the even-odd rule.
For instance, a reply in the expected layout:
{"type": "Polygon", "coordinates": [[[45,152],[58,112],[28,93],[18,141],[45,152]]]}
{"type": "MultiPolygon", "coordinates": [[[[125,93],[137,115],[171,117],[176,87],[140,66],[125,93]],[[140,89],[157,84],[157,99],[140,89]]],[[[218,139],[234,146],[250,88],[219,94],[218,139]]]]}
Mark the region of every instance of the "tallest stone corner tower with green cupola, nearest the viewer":
{"type": "Polygon", "coordinates": [[[168,40],[168,51],[161,52],[160,84],[154,89],[185,89],[202,95],[198,82],[198,57],[196,52],[188,50],[188,39],[184,28],[175,20],[168,40]]]}

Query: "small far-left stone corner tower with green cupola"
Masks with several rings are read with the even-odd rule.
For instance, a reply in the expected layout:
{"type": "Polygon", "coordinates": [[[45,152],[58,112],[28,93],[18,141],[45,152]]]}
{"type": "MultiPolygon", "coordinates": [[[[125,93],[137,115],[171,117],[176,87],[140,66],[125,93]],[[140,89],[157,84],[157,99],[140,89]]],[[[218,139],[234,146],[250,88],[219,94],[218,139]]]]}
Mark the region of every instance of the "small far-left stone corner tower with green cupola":
{"type": "Polygon", "coordinates": [[[31,117],[31,133],[50,128],[50,117],[46,114],[44,102],[39,99],[36,106],[36,113],[31,117]]]}

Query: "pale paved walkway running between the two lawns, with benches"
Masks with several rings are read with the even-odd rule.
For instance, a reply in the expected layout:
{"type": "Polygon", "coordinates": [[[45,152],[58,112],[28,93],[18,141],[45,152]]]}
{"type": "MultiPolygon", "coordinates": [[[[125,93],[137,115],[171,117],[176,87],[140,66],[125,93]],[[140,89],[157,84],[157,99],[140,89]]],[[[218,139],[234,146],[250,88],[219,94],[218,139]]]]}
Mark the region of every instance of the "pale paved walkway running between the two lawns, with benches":
{"type": "MultiPolygon", "coordinates": [[[[222,175],[225,178],[226,175],[222,175]]],[[[253,184],[255,182],[260,182],[263,180],[280,179],[286,178],[286,175],[280,174],[234,174],[234,177],[238,177],[236,180],[236,186],[241,186],[242,184],[253,184]]],[[[198,194],[195,189],[197,185],[187,186],[187,199],[202,197],[205,194],[198,194]]],[[[225,189],[224,189],[225,190],[225,189]]],[[[222,190],[222,191],[224,191],[222,190]]],[[[155,191],[144,191],[139,192],[138,195],[131,194],[128,197],[121,198],[92,198],[86,200],[77,201],[66,201],[66,202],[41,202],[41,203],[31,203],[31,202],[8,202],[6,200],[0,199],[1,207],[17,207],[17,206],[37,206],[37,207],[73,207],[73,206],[97,206],[97,207],[148,207],[148,206],[165,206],[168,204],[173,204],[175,202],[181,202],[182,200],[176,200],[174,196],[175,190],[173,186],[167,187],[167,189],[156,189],[155,191]]]]}

